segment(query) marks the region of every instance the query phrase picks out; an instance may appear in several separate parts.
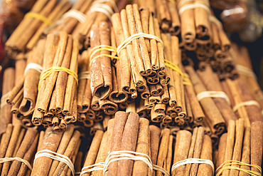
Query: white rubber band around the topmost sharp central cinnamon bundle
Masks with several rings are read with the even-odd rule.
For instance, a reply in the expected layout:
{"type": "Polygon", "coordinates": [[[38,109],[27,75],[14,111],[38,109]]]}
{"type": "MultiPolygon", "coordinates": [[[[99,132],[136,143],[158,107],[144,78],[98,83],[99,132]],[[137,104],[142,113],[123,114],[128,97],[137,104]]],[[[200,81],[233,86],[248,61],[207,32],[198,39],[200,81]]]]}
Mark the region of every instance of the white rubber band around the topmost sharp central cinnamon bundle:
{"type": "Polygon", "coordinates": [[[148,34],[148,33],[135,33],[132,36],[129,36],[125,41],[122,42],[122,44],[120,44],[117,48],[117,54],[119,56],[120,51],[122,51],[122,49],[126,48],[127,45],[129,45],[129,43],[132,42],[132,40],[136,39],[136,38],[140,38],[140,37],[144,37],[144,38],[149,38],[149,39],[155,39],[156,41],[160,42],[163,45],[163,41],[161,40],[161,38],[158,38],[157,36],[148,34]]]}

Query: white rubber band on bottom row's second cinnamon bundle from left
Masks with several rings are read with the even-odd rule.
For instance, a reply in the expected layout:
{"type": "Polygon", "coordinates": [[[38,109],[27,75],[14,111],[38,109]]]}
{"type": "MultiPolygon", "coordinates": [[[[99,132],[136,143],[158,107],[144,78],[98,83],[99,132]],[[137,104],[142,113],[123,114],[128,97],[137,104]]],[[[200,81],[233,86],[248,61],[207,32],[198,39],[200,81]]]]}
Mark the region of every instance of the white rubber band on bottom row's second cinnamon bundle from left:
{"type": "Polygon", "coordinates": [[[48,150],[48,149],[44,149],[44,150],[40,150],[36,153],[34,163],[35,163],[36,159],[38,159],[38,157],[49,157],[53,160],[58,160],[58,161],[64,162],[70,168],[71,174],[75,175],[73,162],[70,160],[70,158],[68,158],[65,155],[62,155],[62,154],[57,153],[57,152],[53,152],[53,151],[48,150]],[[52,153],[53,155],[50,153],[52,153]]]}

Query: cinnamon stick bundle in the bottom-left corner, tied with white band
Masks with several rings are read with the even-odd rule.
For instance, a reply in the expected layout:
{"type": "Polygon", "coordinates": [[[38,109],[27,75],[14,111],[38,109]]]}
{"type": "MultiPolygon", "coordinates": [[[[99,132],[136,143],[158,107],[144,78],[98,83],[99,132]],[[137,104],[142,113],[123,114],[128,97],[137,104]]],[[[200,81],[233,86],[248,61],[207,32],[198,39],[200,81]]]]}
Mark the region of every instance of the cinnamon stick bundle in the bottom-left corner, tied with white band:
{"type": "Polygon", "coordinates": [[[21,125],[7,125],[0,144],[2,175],[30,175],[39,136],[36,128],[26,130],[21,125]]]}

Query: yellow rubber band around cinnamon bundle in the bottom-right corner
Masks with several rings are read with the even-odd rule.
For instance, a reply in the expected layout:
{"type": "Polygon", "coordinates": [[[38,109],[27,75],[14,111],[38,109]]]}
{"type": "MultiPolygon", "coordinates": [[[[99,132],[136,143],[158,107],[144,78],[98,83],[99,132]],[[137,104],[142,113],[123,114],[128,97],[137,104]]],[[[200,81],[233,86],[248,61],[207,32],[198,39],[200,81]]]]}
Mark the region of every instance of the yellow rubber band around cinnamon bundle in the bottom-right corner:
{"type": "Polygon", "coordinates": [[[215,176],[219,176],[222,174],[223,170],[231,170],[231,169],[234,169],[234,170],[240,170],[242,172],[246,172],[247,174],[249,175],[253,175],[253,176],[262,176],[262,168],[258,165],[249,165],[245,162],[240,162],[240,161],[237,161],[237,160],[228,160],[228,161],[225,161],[222,163],[222,165],[220,165],[220,167],[218,167],[218,169],[215,171],[217,172],[217,174],[215,176]],[[227,162],[230,162],[230,163],[227,163],[227,162]],[[255,167],[259,170],[259,172],[256,172],[256,171],[252,171],[252,170],[245,170],[245,169],[241,169],[240,167],[235,167],[235,166],[232,166],[232,165],[246,165],[248,167],[255,167]]]}

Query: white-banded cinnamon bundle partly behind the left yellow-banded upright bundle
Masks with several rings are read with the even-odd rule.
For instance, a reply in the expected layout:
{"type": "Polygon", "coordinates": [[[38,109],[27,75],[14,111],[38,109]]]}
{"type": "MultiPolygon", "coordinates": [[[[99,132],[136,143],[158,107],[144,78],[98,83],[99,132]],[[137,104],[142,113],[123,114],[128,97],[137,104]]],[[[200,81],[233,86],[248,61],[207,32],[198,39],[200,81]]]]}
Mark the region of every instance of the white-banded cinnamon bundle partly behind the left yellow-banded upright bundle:
{"type": "Polygon", "coordinates": [[[14,118],[21,120],[22,125],[26,127],[32,126],[31,117],[36,105],[44,50],[45,39],[41,39],[28,53],[27,61],[23,59],[16,61],[16,83],[6,98],[6,102],[12,105],[10,107],[14,118]]]}

